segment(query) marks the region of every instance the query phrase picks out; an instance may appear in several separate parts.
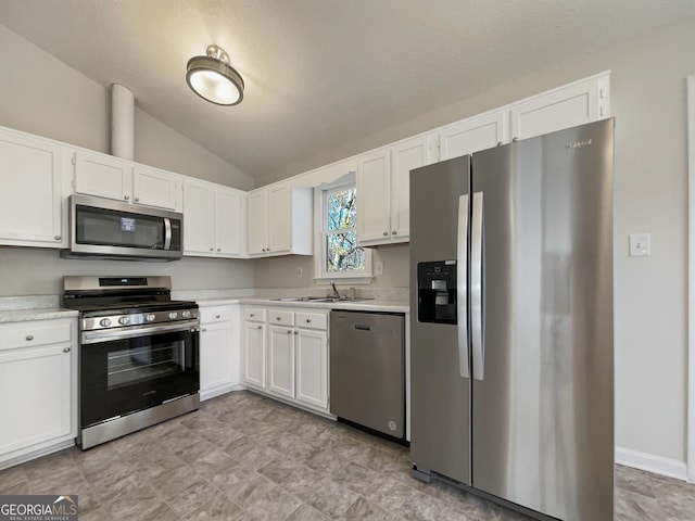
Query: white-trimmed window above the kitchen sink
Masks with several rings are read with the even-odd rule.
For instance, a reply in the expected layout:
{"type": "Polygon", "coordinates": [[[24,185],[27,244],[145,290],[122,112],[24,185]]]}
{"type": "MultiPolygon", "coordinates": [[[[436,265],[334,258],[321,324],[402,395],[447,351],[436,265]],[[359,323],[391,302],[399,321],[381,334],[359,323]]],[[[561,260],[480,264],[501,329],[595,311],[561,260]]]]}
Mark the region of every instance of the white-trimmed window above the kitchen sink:
{"type": "Polygon", "coordinates": [[[318,279],[358,279],[371,277],[371,255],[357,245],[357,190],[354,182],[317,190],[320,225],[316,252],[318,279]]]}

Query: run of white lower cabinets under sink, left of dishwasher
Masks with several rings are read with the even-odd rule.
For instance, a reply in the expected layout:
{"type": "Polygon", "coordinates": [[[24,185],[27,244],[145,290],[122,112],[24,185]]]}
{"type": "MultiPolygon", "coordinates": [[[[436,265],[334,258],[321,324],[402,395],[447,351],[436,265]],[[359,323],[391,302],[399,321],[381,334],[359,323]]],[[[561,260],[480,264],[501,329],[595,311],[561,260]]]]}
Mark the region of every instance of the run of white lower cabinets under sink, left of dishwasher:
{"type": "Polygon", "coordinates": [[[243,310],[243,382],[269,396],[328,412],[328,310],[243,310]]]}

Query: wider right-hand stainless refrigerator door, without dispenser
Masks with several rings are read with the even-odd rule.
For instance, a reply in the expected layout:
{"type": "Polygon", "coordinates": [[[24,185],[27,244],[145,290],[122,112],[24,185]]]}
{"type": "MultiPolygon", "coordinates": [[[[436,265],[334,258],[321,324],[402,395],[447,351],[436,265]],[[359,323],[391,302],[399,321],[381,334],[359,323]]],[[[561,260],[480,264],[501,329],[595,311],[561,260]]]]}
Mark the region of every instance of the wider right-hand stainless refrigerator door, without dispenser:
{"type": "Polygon", "coordinates": [[[472,158],[472,484],[566,521],[612,519],[612,134],[603,120],[472,158]]]}

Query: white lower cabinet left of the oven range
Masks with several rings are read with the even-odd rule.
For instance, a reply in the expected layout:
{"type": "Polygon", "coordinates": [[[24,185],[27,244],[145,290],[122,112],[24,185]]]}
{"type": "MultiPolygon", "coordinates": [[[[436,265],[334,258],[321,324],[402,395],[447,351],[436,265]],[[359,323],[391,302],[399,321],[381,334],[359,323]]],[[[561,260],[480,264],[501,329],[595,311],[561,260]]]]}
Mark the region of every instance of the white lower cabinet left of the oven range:
{"type": "Polygon", "coordinates": [[[77,320],[0,325],[0,468],[75,443],[77,320]]]}

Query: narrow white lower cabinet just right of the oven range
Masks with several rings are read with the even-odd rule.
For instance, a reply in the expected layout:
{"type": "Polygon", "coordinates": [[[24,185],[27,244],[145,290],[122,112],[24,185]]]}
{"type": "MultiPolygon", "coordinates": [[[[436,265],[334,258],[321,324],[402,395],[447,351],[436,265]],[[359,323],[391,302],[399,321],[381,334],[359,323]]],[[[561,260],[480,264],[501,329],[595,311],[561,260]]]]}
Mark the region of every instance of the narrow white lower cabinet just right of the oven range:
{"type": "Polygon", "coordinates": [[[239,384],[239,306],[200,308],[200,397],[228,393],[239,384]]]}

